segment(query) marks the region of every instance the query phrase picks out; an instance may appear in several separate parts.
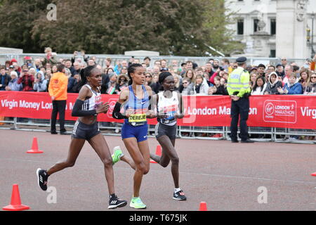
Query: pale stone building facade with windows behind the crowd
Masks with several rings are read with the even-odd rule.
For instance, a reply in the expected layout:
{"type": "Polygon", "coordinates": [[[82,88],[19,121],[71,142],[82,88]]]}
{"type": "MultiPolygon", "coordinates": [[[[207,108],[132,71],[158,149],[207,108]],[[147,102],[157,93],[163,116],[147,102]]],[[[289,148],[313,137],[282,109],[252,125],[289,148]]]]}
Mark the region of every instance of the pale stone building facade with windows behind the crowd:
{"type": "MultiPolygon", "coordinates": [[[[234,39],[249,57],[310,58],[316,51],[316,0],[226,0],[234,39]],[[312,26],[313,25],[313,26],[312,26]],[[313,33],[312,33],[313,32],[313,33]]],[[[237,55],[241,53],[232,53],[237,55]]]]}

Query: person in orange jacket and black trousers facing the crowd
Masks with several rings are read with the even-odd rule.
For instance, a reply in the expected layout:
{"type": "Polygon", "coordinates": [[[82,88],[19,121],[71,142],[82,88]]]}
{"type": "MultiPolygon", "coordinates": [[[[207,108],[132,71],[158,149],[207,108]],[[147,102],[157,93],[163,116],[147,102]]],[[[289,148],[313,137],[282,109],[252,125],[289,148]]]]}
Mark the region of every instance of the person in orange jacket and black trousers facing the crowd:
{"type": "Polygon", "coordinates": [[[66,134],[65,129],[65,109],[67,102],[68,78],[65,75],[65,65],[58,65],[58,70],[53,74],[48,85],[48,92],[53,101],[53,111],[51,113],[51,134],[56,132],[56,120],[59,113],[60,134],[66,134]]]}

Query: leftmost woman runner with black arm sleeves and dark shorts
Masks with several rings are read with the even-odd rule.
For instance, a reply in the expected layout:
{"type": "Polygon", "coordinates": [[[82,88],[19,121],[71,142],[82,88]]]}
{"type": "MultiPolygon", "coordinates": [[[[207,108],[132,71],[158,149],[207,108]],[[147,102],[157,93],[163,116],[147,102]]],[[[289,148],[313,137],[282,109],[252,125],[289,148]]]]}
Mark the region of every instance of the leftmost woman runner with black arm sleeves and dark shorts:
{"type": "Polygon", "coordinates": [[[124,207],[127,202],[117,198],[117,195],[114,193],[112,157],[107,142],[102,134],[100,134],[98,122],[96,121],[98,113],[106,113],[109,108],[108,103],[103,104],[100,102],[100,90],[98,86],[102,82],[101,71],[93,66],[88,66],[81,70],[80,76],[82,88],[79,91],[79,96],[72,110],[72,116],[79,118],[74,124],[67,159],[57,162],[47,170],[37,169],[38,184],[42,190],[46,191],[48,176],[67,167],[74,166],[81,148],[88,141],[104,164],[105,178],[110,193],[108,208],[124,207]]]}

